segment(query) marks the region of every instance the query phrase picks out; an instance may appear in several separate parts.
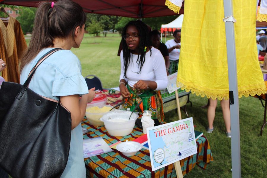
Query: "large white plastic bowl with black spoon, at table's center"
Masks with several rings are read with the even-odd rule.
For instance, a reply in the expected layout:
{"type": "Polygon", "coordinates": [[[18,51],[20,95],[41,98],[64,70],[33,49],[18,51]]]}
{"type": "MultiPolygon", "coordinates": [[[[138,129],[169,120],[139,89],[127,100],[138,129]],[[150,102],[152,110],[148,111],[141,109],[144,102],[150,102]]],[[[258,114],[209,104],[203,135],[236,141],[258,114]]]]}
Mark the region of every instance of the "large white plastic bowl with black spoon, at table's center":
{"type": "Polygon", "coordinates": [[[130,111],[115,111],[103,115],[100,120],[104,122],[105,128],[110,135],[126,136],[133,131],[135,120],[138,118],[138,115],[136,113],[133,113],[129,120],[130,115],[130,111]],[[119,122],[118,119],[120,120],[119,122]]]}

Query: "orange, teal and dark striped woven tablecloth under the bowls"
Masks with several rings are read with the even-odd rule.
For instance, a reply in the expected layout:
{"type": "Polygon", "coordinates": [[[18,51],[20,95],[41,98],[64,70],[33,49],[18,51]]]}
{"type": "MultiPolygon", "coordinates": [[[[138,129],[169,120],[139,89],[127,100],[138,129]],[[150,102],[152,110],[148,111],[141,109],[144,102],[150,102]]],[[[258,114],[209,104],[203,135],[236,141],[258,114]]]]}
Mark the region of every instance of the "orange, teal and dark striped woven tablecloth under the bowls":
{"type": "MultiPolygon", "coordinates": [[[[142,129],[137,127],[134,127],[134,130],[128,136],[115,137],[109,135],[104,126],[95,127],[90,125],[87,120],[84,120],[82,126],[90,130],[89,133],[83,135],[84,139],[101,136],[108,145],[118,141],[125,141],[126,139],[133,141],[143,135],[142,129]]],[[[205,136],[201,136],[196,140],[196,143],[198,153],[180,160],[183,175],[190,172],[196,165],[206,169],[207,164],[213,161],[208,139],[205,136]]],[[[152,171],[149,151],[145,149],[140,150],[136,155],[131,157],[124,156],[119,151],[113,149],[113,152],[85,158],[84,161],[87,177],[176,177],[173,164],[152,171]]]]}

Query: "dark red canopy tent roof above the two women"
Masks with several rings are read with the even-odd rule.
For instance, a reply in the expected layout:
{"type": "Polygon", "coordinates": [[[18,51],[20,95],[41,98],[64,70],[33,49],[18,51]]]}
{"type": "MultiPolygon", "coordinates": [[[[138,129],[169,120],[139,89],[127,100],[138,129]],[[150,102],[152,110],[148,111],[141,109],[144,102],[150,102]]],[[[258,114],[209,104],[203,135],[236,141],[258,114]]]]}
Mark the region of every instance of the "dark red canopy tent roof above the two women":
{"type": "MultiPolygon", "coordinates": [[[[48,0],[49,1],[49,0],[48,0]]],[[[165,0],[74,0],[85,12],[116,15],[132,18],[160,17],[177,15],[165,5],[165,0]]],[[[1,4],[37,7],[42,1],[0,0],[1,4]]],[[[52,1],[51,1],[52,2],[52,1]]],[[[54,1],[56,2],[56,1],[54,1]]],[[[184,13],[182,7],[179,14],[184,13]]]]}

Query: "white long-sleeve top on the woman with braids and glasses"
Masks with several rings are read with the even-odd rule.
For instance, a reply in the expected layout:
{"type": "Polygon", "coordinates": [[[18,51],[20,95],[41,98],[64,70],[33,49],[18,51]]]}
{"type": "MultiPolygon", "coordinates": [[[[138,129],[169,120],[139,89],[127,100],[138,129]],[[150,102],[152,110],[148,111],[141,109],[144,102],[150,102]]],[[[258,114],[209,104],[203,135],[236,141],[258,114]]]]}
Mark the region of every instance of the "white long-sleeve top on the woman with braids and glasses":
{"type": "MultiPolygon", "coordinates": [[[[130,63],[126,72],[126,77],[124,77],[124,61],[123,61],[123,51],[120,53],[120,80],[124,79],[128,82],[131,87],[134,86],[138,80],[152,80],[157,83],[156,90],[163,90],[167,88],[168,78],[166,72],[165,61],[160,53],[160,51],[154,47],[151,48],[152,55],[150,56],[150,51],[146,53],[146,60],[142,67],[142,71],[138,74],[139,67],[137,62],[137,54],[131,54],[130,63]]],[[[140,55],[139,55],[140,58],[140,55]]]]}

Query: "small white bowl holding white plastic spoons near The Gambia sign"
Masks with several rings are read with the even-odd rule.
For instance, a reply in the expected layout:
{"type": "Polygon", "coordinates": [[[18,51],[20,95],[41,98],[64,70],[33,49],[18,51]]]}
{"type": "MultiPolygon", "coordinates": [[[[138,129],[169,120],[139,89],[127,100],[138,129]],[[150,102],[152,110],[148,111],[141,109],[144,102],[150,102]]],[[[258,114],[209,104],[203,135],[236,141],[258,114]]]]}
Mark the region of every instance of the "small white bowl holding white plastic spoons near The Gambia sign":
{"type": "Polygon", "coordinates": [[[123,155],[125,156],[133,156],[135,155],[139,150],[142,149],[142,144],[138,143],[138,142],[133,142],[133,141],[130,141],[130,142],[122,142],[120,144],[117,145],[116,149],[118,151],[120,151],[123,155]],[[125,151],[123,150],[123,147],[131,147],[131,148],[136,148],[135,150],[133,151],[125,151]]]}

